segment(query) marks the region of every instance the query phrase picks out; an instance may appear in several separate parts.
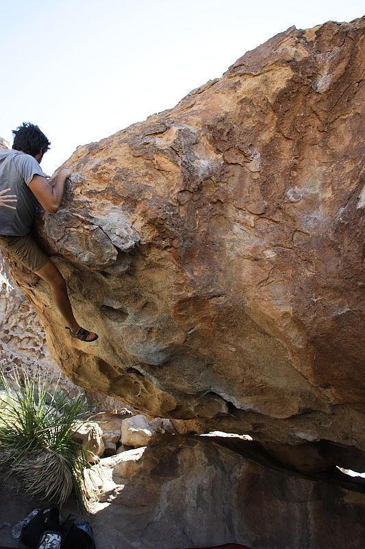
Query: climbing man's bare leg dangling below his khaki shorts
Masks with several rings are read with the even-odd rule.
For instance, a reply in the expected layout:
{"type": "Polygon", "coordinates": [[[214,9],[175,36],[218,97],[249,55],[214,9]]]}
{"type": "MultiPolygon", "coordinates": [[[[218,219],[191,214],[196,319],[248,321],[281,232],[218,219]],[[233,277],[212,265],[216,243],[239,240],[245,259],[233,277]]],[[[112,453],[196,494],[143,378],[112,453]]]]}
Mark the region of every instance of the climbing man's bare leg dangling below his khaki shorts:
{"type": "MultiPolygon", "coordinates": [[[[71,307],[70,299],[68,298],[67,286],[64,277],[52,263],[51,259],[36,271],[38,277],[45,280],[51,287],[51,292],[53,296],[53,301],[55,302],[56,307],[68,323],[68,326],[71,328],[74,334],[80,329],[80,325],[77,323],[75,316],[73,316],[73,310],[71,307]]],[[[94,338],[95,334],[90,332],[86,341],[90,341],[94,338]]]]}

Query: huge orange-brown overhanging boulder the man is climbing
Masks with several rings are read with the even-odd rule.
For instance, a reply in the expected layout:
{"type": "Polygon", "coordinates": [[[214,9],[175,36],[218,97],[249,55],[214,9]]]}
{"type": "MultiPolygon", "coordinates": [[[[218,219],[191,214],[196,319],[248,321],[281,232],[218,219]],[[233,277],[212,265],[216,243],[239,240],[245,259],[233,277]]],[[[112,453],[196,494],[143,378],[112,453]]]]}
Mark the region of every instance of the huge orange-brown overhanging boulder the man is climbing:
{"type": "Polygon", "coordinates": [[[12,266],[74,382],[207,429],[365,449],[363,38],[364,19],[292,27],[77,148],[38,233],[99,340],[69,338],[12,266]]]}

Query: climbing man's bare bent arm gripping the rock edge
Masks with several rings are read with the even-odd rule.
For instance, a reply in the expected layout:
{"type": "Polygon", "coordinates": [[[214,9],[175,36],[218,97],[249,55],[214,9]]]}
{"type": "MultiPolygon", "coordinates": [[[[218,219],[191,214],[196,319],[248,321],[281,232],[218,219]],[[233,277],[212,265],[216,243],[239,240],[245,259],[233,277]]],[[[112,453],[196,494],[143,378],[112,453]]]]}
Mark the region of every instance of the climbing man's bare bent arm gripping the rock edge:
{"type": "Polygon", "coordinates": [[[62,197],[64,196],[64,183],[71,176],[71,170],[61,170],[54,183],[49,183],[45,177],[35,175],[29,183],[32,191],[40,205],[49,213],[55,213],[60,209],[62,197]]]}

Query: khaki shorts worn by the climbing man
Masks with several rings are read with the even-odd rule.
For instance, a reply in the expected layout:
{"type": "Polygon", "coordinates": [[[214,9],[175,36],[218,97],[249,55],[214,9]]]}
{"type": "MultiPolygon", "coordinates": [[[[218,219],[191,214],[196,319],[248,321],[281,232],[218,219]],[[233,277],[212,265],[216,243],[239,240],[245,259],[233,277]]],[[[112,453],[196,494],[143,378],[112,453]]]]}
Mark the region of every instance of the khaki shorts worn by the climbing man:
{"type": "Polygon", "coordinates": [[[0,246],[5,257],[8,255],[16,259],[34,272],[49,260],[48,255],[40,249],[30,233],[25,236],[0,235],[0,246]]]}

